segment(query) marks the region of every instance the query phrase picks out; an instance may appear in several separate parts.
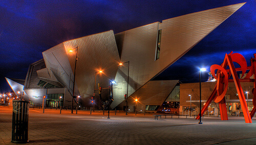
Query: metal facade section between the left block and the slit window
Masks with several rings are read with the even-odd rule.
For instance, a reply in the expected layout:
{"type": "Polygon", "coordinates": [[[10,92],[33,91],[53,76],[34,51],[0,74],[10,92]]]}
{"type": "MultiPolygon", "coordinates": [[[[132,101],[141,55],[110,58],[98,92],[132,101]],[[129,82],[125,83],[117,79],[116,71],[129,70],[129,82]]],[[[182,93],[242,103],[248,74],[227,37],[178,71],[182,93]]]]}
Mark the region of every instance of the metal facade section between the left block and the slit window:
{"type": "MultiPolygon", "coordinates": [[[[128,96],[154,76],[158,24],[159,22],[155,22],[115,35],[121,62],[130,61],[128,96]]],[[[117,71],[112,108],[124,100],[127,90],[127,68],[128,63],[124,63],[117,71]]]]}

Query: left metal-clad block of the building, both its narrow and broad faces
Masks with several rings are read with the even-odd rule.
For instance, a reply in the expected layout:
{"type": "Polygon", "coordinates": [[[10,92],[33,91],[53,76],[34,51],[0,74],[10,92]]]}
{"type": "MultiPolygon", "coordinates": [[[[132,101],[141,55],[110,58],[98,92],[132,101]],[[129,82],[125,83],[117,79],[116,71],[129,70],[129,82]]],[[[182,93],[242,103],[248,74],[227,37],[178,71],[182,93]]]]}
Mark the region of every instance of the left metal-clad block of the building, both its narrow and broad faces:
{"type": "MultiPolygon", "coordinates": [[[[66,41],[43,52],[48,71],[51,72],[50,77],[54,75],[70,94],[73,92],[76,53],[78,59],[75,95],[80,95],[83,103],[90,105],[90,98],[94,93],[95,72],[103,71],[102,74],[97,73],[96,83],[108,88],[118,69],[120,59],[113,31],[66,41]]],[[[107,94],[108,91],[102,91],[102,96],[106,97],[107,94]]]]}

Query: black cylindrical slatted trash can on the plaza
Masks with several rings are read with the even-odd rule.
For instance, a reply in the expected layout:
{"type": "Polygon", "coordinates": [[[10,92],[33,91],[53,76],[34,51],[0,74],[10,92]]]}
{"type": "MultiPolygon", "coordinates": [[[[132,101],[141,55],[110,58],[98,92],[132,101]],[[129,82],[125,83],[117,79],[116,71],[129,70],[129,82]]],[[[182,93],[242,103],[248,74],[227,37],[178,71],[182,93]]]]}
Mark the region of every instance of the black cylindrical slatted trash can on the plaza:
{"type": "Polygon", "coordinates": [[[27,143],[29,125],[29,101],[13,101],[12,140],[14,143],[27,143]]]}

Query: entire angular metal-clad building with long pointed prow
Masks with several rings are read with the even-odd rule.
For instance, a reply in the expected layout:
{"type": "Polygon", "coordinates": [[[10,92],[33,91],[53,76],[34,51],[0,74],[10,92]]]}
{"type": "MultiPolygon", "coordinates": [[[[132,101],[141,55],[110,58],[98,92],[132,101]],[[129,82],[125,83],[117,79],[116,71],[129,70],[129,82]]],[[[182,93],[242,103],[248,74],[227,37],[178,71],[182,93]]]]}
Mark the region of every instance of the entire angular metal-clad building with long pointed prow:
{"type": "Polygon", "coordinates": [[[129,109],[159,106],[178,80],[153,79],[244,4],[170,18],[118,34],[107,31],[63,42],[42,52],[44,60],[30,66],[24,91],[38,103],[42,101],[38,96],[46,95],[50,105],[59,99],[61,105],[71,106],[74,91],[75,96],[81,96],[75,98],[75,105],[83,107],[94,103],[101,108],[111,96],[111,108],[124,109],[125,94],[129,109]],[[113,80],[112,93],[108,88],[113,80]]]}

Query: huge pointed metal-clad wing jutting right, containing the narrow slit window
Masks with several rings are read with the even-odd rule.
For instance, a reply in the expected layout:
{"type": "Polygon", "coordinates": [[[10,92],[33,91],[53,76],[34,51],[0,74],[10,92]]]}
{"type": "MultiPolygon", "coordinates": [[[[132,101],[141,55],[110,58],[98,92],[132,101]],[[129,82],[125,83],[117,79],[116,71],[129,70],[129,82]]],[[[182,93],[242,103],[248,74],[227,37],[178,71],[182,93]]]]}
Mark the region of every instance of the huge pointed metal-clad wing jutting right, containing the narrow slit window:
{"type": "MultiPolygon", "coordinates": [[[[128,97],[147,81],[176,62],[188,50],[213,31],[245,3],[187,14],[155,22],[116,34],[122,62],[130,61],[128,97]],[[161,50],[156,60],[158,31],[161,30],[161,50]]],[[[124,100],[127,89],[127,64],[119,67],[114,85],[112,108],[124,100]]]]}

